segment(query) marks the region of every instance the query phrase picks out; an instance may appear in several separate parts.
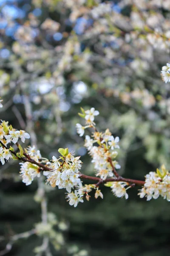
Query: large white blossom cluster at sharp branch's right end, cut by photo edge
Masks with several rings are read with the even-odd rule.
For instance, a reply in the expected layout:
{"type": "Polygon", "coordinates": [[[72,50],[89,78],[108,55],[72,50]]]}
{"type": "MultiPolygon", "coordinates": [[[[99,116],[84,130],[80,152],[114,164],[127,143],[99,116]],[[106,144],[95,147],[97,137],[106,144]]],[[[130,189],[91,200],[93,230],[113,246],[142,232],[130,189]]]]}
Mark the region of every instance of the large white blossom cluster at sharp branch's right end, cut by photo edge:
{"type": "Polygon", "coordinates": [[[161,166],[161,171],[157,169],[157,172],[150,172],[147,174],[144,186],[140,189],[140,198],[157,199],[159,195],[167,201],[170,201],[170,173],[165,169],[165,166],[161,166]]]}

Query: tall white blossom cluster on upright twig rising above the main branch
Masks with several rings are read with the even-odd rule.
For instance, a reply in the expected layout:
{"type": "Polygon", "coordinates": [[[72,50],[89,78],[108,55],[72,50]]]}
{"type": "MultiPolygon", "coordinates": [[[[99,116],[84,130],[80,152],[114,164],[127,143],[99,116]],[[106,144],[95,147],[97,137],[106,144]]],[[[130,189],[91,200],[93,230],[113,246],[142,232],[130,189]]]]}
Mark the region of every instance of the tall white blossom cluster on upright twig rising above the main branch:
{"type": "MultiPolygon", "coordinates": [[[[96,131],[94,116],[98,115],[99,111],[95,111],[94,108],[84,111],[82,109],[82,114],[79,114],[82,118],[86,120],[87,126],[82,126],[77,124],[77,133],[80,137],[83,136],[85,128],[94,128],[92,137],[89,135],[85,136],[85,147],[88,149],[89,154],[92,157],[92,163],[94,163],[94,169],[96,176],[99,176],[102,180],[105,180],[107,177],[113,176],[113,168],[109,159],[113,159],[117,156],[117,151],[114,151],[115,148],[119,148],[119,137],[114,138],[111,135],[109,129],[104,133],[96,131]],[[94,143],[98,144],[93,145],[94,143]]],[[[116,160],[112,161],[113,166],[116,169],[120,169],[119,163],[116,160]]]]}

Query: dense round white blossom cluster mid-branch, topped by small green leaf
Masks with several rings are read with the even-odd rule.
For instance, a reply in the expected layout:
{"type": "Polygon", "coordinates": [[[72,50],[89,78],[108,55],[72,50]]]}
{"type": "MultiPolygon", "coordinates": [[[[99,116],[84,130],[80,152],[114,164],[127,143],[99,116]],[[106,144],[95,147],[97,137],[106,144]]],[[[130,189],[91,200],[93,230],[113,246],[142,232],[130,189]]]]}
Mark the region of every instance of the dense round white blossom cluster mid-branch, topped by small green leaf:
{"type": "Polygon", "coordinates": [[[52,171],[43,172],[43,175],[47,176],[47,183],[52,187],[58,186],[59,189],[66,189],[69,193],[74,186],[81,185],[79,170],[82,167],[82,161],[79,158],[71,153],[63,154],[59,159],[53,156],[53,163],[48,163],[52,171]]]}

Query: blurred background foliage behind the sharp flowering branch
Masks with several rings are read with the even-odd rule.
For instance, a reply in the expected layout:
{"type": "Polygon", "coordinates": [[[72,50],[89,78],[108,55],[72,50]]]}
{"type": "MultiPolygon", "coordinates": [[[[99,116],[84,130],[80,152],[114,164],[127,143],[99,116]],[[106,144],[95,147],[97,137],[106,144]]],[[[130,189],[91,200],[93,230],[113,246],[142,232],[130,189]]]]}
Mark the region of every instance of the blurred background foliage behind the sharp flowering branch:
{"type": "MultiPolygon", "coordinates": [[[[160,76],[170,59],[169,0],[0,0],[0,34],[0,119],[29,132],[29,101],[43,157],[68,147],[93,175],[75,124],[80,107],[94,107],[99,130],[121,139],[121,175],[144,180],[169,168],[170,86],[160,76]]],[[[16,162],[0,166],[1,250],[40,222],[37,183],[25,186],[18,173],[16,162]]],[[[45,186],[51,255],[169,255],[168,202],[140,199],[138,189],[126,201],[102,187],[103,200],[75,209],[45,186]]],[[[50,255],[41,240],[41,232],[17,240],[6,255],[50,255]]]]}

